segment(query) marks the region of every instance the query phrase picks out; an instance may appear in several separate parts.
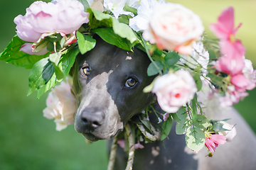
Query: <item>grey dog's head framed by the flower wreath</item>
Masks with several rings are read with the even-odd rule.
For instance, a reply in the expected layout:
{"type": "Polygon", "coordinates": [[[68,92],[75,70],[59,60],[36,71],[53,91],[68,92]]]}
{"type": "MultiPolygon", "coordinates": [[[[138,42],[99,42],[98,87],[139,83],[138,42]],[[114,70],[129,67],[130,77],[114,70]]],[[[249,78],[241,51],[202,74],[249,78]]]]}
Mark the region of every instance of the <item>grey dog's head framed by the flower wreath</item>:
{"type": "Polygon", "coordinates": [[[127,52],[97,38],[95,48],[79,55],[73,69],[75,130],[91,141],[109,140],[121,132],[154,98],[143,93],[154,79],[146,73],[149,63],[141,50],[127,52]]]}

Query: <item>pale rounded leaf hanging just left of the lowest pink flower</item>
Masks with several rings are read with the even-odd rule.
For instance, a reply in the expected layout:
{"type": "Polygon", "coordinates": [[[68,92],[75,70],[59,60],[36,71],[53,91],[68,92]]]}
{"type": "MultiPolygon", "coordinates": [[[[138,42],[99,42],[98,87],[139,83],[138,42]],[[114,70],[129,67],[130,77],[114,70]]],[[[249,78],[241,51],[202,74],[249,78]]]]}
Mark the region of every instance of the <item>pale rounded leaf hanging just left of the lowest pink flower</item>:
{"type": "Polygon", "coordinates": [[[203,148],[206,142],[206,136],[200,128],[191,128],[186,133],[186,145],[195,152],[203,148]]]}

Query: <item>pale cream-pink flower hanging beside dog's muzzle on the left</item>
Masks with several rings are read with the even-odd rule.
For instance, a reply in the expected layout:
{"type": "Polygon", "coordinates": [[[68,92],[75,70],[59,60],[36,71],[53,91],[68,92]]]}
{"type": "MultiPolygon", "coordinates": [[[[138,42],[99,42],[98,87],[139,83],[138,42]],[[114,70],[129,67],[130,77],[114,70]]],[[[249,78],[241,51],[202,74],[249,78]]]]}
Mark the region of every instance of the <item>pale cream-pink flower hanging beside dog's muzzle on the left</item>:
{"type": "Polygon", "coordinates": [[[55,89],[48,94],[46,106],[43,116],[48,119],[55,118],[56,130],[60,131],[71,125],[77,107],[70,84],[61,81],[59,86],[55,86],[55,89]]]}

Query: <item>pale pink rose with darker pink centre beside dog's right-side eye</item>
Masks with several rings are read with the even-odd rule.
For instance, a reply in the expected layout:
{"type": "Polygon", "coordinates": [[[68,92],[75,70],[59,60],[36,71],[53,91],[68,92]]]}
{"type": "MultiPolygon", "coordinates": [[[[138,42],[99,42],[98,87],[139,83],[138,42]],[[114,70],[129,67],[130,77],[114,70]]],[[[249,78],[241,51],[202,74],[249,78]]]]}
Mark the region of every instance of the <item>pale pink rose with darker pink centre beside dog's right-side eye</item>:
{"type": "Polygon", "coordinates": [[[159,106],[167,113],[176,113],[181,106],[193,99],[196,91],[196,83],[191,74],[181,69],[156,79],[152,89],[159,106]]]}

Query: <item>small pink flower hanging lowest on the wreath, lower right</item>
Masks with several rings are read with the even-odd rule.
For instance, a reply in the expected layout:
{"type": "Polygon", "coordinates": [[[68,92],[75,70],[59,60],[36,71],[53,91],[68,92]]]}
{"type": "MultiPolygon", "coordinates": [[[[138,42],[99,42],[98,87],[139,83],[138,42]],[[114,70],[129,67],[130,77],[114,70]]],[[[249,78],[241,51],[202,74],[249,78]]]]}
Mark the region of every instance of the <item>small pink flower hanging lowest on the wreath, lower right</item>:
{"type": "Polygon", "coordinates": [[[205,132],[206,135],[206,147],[210,152],[215,152],[218,145],[223,145],[226,142],[226,137],[223,135],[210,135],[210,133],[205,132]]]}

